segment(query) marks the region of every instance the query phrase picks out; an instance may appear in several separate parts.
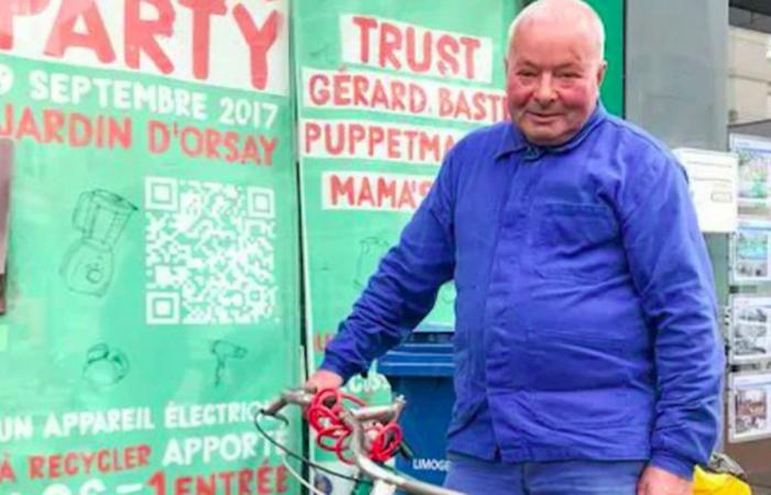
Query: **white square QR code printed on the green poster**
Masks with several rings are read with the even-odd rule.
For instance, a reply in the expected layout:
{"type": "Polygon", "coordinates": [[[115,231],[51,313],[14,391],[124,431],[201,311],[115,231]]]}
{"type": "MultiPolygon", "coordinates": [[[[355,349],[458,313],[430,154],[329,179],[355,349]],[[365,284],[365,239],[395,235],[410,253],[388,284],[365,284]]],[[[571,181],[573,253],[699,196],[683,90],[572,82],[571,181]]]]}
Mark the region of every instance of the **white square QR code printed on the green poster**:
{"type": "Polygon", "coordinates": [[[146,177],[146,322],[275,318],[272,189],[146,177]]]}

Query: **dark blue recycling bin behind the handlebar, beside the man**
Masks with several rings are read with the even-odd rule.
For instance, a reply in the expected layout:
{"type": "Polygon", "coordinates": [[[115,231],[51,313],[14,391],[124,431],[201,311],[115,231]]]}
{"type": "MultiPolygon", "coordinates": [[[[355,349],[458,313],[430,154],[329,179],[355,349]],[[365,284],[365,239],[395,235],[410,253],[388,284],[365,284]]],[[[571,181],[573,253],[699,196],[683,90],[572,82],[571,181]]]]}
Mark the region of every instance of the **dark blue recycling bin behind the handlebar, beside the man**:
{"type": "Polygon", "coordinates": [[[378,372],[393,393],[406,399],[399,422],[414,458],[397,455],[397,469],[438,485],[449,466],[445,448],[455,403],[452,338],[452,329],[419,329],[378,361],[378,372]]]}

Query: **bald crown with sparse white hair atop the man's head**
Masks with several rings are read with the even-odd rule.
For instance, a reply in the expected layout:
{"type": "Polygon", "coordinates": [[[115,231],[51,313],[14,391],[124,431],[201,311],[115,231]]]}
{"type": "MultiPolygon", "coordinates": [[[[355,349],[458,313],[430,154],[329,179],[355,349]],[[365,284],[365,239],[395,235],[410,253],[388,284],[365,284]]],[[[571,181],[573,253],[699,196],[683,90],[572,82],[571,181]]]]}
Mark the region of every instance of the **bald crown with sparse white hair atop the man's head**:
{"type": "Polygon", "coordinates": [[[524,8],[509,26],[509,56],[517,51],[517,34],[533,29],[579,30],[599,62],[605,53],[605,26],[597,12],[583,0],[537,0],[524,8]]]}

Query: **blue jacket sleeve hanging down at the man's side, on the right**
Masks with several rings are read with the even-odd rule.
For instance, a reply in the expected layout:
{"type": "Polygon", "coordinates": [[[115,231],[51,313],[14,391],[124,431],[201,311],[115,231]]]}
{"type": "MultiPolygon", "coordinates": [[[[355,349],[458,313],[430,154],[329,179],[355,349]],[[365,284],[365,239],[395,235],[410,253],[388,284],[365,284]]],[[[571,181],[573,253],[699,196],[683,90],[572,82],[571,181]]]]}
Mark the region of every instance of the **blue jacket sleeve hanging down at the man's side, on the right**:
{"type": "MultiPolygon", "coordinates": [[[[658,380],[651,464],[691,479],[720,432],[725,354],[714,280],[682,166],[661,154],[623,213],[630,271],[654,332],[658,380]]],[[[645,164],[648,165],[648,164],[645,164]]]]}

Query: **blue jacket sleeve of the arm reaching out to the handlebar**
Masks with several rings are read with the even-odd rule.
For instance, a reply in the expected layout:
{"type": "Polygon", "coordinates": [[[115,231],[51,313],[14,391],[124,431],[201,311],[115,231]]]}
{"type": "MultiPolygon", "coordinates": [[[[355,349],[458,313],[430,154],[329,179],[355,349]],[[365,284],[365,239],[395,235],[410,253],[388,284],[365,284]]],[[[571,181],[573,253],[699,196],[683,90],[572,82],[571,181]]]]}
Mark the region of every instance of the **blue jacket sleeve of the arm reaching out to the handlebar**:
{"type": "Polygon", "coordinates": [[[348,381],[397,345],[431,311],[455,270],[454,165],[447,154],[427,196],[380,261],[377,272],[327,344],[322,369],[348,381]]]}

